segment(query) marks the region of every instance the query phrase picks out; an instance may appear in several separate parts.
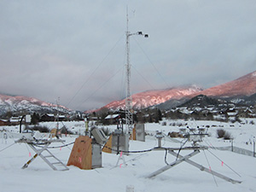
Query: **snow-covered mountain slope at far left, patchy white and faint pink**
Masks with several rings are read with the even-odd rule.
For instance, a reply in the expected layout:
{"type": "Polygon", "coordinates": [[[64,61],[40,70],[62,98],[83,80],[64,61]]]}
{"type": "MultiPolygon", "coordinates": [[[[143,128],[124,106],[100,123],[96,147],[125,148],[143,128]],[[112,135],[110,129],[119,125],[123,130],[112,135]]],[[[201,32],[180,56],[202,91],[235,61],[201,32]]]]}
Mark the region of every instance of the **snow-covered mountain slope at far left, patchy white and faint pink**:
{"type": "Polygon", "coordinates": [[[0,94],[0,115],[7,112],[38,112],[38,113],[54,113],[60,111],[69,113],[70,110],[63,106],[57,106],[49,102],[43,102],[36,98],[27,96],[6,96],[0,94]]]}

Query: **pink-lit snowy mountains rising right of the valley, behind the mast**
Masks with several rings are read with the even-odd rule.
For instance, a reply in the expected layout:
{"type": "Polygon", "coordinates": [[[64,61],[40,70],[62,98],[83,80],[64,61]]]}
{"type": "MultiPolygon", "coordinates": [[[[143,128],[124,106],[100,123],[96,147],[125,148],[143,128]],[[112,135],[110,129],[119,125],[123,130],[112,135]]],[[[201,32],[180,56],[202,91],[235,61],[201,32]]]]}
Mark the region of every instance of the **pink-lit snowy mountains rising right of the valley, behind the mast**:
{"type": "MultiPolygon", "coordinates": [[[[220,84],[202,90],[196,85],[189,87],[177,87],[167,90],[148,90],[132,96],[133,108],[148,108],[158,105],[160,108],[172,108],[183,102],[189,101],[194,96],[205,95],[225,98],[241,98],[251,96],[256,93],[256,71],[248,73],[239,79],[235,79],[225,84],[220,84]]],[[[110,102],[103,108],[119,109],[125,108],[125,100],[110,102]]]]}

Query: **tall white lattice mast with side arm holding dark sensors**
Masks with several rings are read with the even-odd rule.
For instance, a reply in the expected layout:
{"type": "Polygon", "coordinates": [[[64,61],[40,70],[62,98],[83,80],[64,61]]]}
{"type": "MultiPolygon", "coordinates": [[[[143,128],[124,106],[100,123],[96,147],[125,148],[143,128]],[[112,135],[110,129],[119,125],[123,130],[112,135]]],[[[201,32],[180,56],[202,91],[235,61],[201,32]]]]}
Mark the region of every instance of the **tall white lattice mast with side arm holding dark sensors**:
{"type": "Polygon", "coordinates": [[[126,10],[126,97],[125,97],[125,130],[126,133],[133,129],[133,117],[132,117],[132,98],[131,98],[131,64],[130,64],[130,37],[132,35],[143,35],[144,38],[148,38],[148,34],[143,34],[143,32],[129,32],[129,18],[128,18],[128,8],[126,10]]]}

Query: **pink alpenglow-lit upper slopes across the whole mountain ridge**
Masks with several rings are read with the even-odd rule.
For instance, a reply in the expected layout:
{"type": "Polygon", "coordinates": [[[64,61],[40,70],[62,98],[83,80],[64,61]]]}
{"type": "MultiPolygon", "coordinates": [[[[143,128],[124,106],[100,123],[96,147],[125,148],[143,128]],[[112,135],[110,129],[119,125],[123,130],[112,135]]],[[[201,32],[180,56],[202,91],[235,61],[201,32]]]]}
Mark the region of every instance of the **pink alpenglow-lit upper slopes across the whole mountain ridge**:
{"type": "MultiPolygon", "coordinates": [[[[166,90],[148,90],[132,95],[133,108],[148,108],[168,100],[180,100],[185,97],[192,98],[198,95],[231,97],[231,96],[251,96],[256,93],[256,71],[248,73],[239,79],[235,79],[225,84],[220,84],[202,90],[196,85],[174,87],[166,90]]],[[[0,94],[0,109],[3,112],[8,110],[41,110],[42,108],[62,108],[62,110],[70,111],[63,106],[57,106],[49,102],[43,102],[36,98],[28,96],[6,96],[0,94]]],[[[121,101],[113,101],[102,108],[108,109],[125,109],[125,99],[121,101]]],[[[98,111],[102,108],[92,110],[98,111]]]]}

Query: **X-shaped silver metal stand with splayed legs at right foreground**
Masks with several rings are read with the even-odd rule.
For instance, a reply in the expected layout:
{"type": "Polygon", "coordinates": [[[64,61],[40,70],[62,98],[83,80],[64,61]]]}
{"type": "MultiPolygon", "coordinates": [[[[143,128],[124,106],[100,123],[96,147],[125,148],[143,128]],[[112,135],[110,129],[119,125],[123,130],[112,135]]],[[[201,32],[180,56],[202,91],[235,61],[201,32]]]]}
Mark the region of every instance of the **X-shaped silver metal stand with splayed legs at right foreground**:
{"type": "MultiPolygon", "coordinates": [[[[185,149],[189,149],[189,148],[185,148],[185,149]]],[[[193,149],[193,148],[191,148],[191,149],[193,149]]],[[[187,154],[185,156],[182,156],[182,155],[177,154],[176,152],[174,152],[174,150],[177,150],[177,148],[169,148],[168,149],[169,154],[172,154],[173,156],[177,157],[177,160],[175,160],[174,162],[172,162],[171,164],[169,164],[167,166],[164,166],[164,167],[160,168],[158,171],[151,173],[150,175],[148,175],[148,178],[152,178],[152,177],[155,177],[155,176],[159,175],[162,172],[166,172],[168,169],[171,169],[173,166],[177,166],[178,164],[185,161],[185,162],[189,163],[191,166],[195,166],[196,168],[200,169],[201,171],[210,173],[210,174],[212,174],[216,177],[222,178],[222,179],[224,179],[224,180],[226,180],[230,183],[241,183],[241,181],[237,181],[237,180],[234,180],[230,177],[226,177],[226,176],[224,176],[224,175],[222,175],[218,172],[214,172],[214,171],[208,169],[205,166],[199,165],[198,163],[196,163],[193,160],[189,160],[190,157],[193,157],[195,154],[199,154],[200,149],[206,149],[206,148],[195,148],[195,149],[193,149],[194,151],[192,153],[187,154]]]]}

